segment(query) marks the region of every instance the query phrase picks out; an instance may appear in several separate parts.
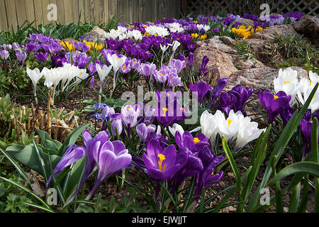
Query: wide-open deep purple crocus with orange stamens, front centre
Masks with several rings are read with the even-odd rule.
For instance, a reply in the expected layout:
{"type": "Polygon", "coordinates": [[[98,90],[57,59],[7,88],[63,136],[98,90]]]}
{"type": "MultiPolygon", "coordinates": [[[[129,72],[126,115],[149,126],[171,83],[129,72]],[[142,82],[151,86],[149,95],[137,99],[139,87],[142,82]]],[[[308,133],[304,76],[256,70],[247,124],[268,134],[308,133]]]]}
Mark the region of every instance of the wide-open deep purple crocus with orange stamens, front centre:
{"type": "Polygon", "coordinates": [[[158,140],[150,140],[147,143],[146,154],[142,154],[142,160],[147,168],[147,175],[159,182],[172,178],[179,170],[177,152],[174,145],[162,149],[158,140]]]}

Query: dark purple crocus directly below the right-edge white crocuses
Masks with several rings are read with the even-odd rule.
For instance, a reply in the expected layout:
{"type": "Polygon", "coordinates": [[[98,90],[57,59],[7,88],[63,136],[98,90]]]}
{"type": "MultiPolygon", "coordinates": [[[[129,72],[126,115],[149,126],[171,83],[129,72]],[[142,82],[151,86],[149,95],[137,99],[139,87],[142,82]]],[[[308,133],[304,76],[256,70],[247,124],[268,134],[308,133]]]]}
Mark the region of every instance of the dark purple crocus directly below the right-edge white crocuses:
{"type": "Polygon", "coordinates": [[[269,123],[273,123],[281,109],[284,106],[290,106],[289,101],[291,100],[291,96],[287,96],[286,93],[282,91],[274,95],[269,90],[266,90],[264,93],[262,90],[259,90],[258,99],[262,103],[262,106],[267,109],[269,123]]]}

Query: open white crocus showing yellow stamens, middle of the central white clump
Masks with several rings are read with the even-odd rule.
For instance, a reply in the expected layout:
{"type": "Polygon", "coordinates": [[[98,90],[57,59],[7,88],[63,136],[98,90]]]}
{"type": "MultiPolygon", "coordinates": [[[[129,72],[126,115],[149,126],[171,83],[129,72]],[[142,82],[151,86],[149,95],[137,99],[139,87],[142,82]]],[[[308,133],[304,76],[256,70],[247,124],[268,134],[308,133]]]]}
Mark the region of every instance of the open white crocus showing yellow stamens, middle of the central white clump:
{"type": "Polygon", "coordinates": [[[227,141],[230,140],[230,142],[233,142],[237,138],[237,133],[240,129],[240,123],[244,119],[242,112],[237,111],[237,113],[235,113],[233,110],[231,110],[227,119],[225,119],[225,116],[221,111],[216,111],[216,114],[218,114],[216,121],[219,124],[218,133],[220,137],[225,135],[227,141]]]}

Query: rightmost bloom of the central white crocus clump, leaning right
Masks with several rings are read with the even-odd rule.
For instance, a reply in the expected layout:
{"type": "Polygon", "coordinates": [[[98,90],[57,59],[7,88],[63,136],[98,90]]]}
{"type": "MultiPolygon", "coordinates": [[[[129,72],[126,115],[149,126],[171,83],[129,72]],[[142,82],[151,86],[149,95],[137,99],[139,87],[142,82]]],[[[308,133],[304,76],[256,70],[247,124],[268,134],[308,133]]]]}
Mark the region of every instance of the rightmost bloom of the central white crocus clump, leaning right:
{"type": "Polygon", "coordinates": [[[237,140],[235,143],[235,149],[244,147],[247,143],[252,140],[259,138],[266,129],[259,129],[258,123],[251,121],[250,117],[245,117],[240,123],[240,128],[237,133],[237,140]]]}

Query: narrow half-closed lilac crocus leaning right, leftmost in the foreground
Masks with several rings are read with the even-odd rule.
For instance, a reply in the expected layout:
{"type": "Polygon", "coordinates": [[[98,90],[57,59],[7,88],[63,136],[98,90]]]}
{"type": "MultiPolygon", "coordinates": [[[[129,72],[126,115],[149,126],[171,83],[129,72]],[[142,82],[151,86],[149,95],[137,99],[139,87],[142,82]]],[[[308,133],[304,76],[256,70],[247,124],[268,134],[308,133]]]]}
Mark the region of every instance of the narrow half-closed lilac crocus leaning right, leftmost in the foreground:
{"type": "MultiPolygon", "coordinates": [[[[69,148],[65,151],[65,154],[62,156],[61,160],[57,165],[55,166],[55,170],[53,170],[53,173],[57,175],[59,172],[62,172],[62,170],[65,169],[65,167],[68,167],[69,165],[72,165],[74,162],[77,162],[85,155],[85,148],[79,147],[77,145],[70,145],[69,148]]],[[[47,186],[50,184],[50,181],[52,179],[52,176],[47,179],[47,186]]]]}

